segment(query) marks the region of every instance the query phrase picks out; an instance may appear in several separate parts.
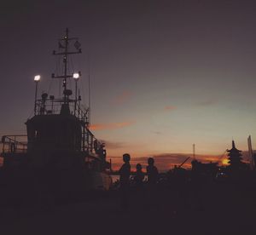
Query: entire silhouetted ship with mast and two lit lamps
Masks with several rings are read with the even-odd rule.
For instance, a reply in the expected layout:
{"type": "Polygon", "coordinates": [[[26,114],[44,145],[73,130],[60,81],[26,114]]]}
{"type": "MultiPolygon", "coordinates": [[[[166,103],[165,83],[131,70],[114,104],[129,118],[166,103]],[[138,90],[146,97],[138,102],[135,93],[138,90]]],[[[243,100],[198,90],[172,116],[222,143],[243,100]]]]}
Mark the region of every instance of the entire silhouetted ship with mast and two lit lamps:
{"type": "Polygon", "coordinates": [[[82,52],[78,40],[69,37],[67,29],[58,41],[59,49],[53,51],[63,59],[63,73],[51,76],[63,81],[61,98],[43,93],[38,99],[40,77],[36,76],[34,115],[26,121],[26,135],[2,137],[3,185],[58,196],[111,186],[104,143],[90,131],[90,107],[82,106],[78,94],[81,72],[68,73],[68,57],[82,52]],[[70,83],[75,83],[74,95],[70,83]]]}

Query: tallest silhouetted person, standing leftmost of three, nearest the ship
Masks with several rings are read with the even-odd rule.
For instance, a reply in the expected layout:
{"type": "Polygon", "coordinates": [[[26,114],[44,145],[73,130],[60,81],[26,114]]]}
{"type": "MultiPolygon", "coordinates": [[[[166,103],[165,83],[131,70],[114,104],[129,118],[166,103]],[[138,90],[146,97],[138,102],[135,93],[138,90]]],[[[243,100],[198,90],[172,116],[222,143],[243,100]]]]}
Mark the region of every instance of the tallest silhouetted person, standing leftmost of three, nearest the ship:
{"type": "Polygon", "coordinates": [[[121,196],[121,207],[127,209],[128,201],[128,191],[130,186],[130,175],[131,175],[131,165],[130,165],[130,154],[125,153],[123,155],[124,164],[119,169],[119,183],[120,183],[120,196],[121,196]]]}

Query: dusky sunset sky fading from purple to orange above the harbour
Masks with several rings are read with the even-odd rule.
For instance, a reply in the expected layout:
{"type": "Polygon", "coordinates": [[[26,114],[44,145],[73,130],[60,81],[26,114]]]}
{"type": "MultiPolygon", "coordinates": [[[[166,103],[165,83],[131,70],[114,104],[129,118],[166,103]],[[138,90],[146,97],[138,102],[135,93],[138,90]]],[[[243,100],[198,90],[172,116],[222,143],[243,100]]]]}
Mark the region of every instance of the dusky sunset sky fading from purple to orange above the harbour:
{"type": "Polygon", "coordinates": [[[207,160],[232,139],[247,151],[252,135],[255,146],[253,1],[3,1],[0,11],[0,135],[26,132],[35,75],[40,93],[58,95],[51,53],[69,27],[82,44],[73,62],[85,104],[90,63],[91,129],[109,157],[172,167],[193,143],[207,160]]]}

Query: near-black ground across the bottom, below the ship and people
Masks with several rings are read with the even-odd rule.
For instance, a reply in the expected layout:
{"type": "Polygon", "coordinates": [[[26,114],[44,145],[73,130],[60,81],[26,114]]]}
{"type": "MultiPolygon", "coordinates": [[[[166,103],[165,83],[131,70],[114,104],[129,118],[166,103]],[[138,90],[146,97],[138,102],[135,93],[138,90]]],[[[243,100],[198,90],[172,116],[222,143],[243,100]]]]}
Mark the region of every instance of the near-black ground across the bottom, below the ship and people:
{"type": "Polygon", "coordinates": [[[1,234],[256,234],[256,186],[216,183],[131,189],[69,203],[0,208],[1,234]]]}

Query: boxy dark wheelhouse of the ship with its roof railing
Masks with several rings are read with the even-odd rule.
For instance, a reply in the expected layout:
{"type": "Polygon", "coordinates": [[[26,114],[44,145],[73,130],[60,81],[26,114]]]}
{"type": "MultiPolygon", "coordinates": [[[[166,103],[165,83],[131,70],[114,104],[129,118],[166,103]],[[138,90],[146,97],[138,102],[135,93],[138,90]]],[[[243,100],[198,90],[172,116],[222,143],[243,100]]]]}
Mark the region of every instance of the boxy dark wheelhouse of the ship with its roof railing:
{"type": "Polygon", "coordinates": [[[94,136],[90,133],[86,112],[77,105],[73,112],[70,103],[61,103],[43,94],[37,100],[34,117],[26,122],[28,152],[87,152],[92,153],[94,136]],[[61,104],[60,104],[61,103],[61,104]]]}

